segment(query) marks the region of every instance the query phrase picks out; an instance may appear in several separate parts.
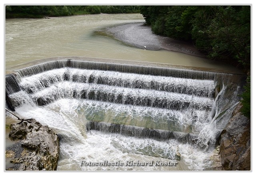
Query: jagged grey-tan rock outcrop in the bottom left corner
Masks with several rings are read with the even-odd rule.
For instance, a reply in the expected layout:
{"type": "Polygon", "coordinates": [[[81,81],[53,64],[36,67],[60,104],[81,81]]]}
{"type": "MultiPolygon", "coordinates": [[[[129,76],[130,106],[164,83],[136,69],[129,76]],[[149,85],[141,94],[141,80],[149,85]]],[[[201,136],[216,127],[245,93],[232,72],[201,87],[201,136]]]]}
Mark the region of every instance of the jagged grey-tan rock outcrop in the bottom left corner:
{"type": "Polygon", "coordinates": [[[10,125],[9,137],[16,144],[6,150],[14,156],[14,166],[6,170],[56,170],[59,157],[59,138],[52,129],[34,119],[10,125]],[[20,151],[20,152],[17,152],[20,151]]]}

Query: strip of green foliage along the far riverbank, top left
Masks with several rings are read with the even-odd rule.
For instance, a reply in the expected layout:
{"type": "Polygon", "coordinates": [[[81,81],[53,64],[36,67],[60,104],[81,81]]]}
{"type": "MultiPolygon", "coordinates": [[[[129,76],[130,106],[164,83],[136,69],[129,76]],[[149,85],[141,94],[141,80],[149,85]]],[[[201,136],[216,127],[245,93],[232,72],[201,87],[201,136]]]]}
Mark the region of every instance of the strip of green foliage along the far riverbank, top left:
{"type": "Polygon", "coordinates": [[[6,18],[139,13],[140,6],[6,6],[6,18]]]}

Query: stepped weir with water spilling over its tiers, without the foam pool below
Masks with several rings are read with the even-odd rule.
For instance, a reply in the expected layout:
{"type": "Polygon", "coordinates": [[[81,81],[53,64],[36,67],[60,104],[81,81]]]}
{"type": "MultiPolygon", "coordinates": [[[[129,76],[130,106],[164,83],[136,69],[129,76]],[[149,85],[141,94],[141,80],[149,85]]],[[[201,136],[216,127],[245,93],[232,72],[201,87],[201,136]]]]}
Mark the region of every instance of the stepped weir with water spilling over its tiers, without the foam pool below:
{"type": "Polygon", "coordinates": [[[27,106],[42,107],[68,117],[67,124],[79,117],[85,137],[94,130],[176,140],[206,151],[228,123],[242,79],[228,73],[63,59],[6,75],[6,106],[18,113],[27,106]],[[60,102],[70,109],[61,111],[59,106],[66,105],[60,102]]]}

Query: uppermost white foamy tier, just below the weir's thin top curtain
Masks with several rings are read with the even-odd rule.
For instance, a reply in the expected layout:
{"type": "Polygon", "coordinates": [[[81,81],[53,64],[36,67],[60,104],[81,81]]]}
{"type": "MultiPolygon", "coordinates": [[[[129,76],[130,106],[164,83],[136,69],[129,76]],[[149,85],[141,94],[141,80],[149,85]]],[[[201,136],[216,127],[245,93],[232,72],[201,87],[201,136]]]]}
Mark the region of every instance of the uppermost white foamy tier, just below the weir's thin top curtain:
{"type": "Polygon", "coordinates": [[[80,83],[106,84],[120,87],[155,89],[160,91],[186,93],[196,96],[211,97],[213,80],[185,79],[117,71],[101,71],[75,68],[60,68],[45,71],[30,77],[21,78],[23,89],[36,92],[59,81],[76,81],[80,83]]]}

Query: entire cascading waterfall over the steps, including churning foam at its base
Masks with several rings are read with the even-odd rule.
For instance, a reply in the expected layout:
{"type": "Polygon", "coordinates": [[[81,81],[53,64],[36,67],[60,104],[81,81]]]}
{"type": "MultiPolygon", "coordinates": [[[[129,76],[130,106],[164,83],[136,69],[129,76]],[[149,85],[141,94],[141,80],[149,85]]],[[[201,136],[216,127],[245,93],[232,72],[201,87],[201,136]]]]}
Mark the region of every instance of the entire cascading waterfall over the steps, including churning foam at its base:
{"type": "Polygon", "coordinates": [[[67,59],[8,75],[6,101],[59,134],[59,170],[204,170],[238,102],[240,87],[228,87],[233,77],[67,59]],[[177,152],[182,159],[175,167],[80,165],[175,161],[177,152]]]}

